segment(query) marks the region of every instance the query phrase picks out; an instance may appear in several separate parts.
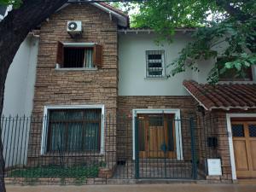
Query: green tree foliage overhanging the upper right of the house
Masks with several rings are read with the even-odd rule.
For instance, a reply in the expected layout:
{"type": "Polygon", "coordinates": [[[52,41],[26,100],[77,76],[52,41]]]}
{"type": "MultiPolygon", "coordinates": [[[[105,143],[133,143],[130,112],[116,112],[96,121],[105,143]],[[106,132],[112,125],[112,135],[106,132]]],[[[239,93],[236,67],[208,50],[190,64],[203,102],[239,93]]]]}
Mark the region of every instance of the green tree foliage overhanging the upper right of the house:
{"type": "Polygon", "coordinates": [[[149,27],[159,35],[158,40],[172,42],[177,27],[195,27],[193,41],[182,49],[172,65],[171,75],[187,68],[198,71],[196,61],[225,57],[222,67],[215,65],[208,76],[218,82],[221,73],[235,68],[242,75],[247,67],[256,64],[255,26],[256,3],[253,0],[148,0],[140,3],[135,26],[149,27]],[[223,51],[217,47],[223,45],[223,51]]]}

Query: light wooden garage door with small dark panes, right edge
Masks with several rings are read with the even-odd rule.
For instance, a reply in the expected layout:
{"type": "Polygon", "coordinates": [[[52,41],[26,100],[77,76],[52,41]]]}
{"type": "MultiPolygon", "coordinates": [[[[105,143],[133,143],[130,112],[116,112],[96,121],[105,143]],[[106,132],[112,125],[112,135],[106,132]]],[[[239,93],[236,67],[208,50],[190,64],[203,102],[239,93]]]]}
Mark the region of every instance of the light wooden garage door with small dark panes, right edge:
{"type": "Polygon", "coordinates": [[[256,177],[256,121],[232,121],[237,178],[256,177]]]}

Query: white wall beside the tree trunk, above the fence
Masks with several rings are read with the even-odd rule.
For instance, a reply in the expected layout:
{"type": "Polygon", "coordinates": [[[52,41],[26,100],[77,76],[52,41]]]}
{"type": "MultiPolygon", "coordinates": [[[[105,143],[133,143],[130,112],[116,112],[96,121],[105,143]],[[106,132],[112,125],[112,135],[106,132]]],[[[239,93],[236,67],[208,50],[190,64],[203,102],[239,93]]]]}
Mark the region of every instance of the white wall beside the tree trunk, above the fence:
{"type": "Polygon", "coordinates": [[[3,115],[30,115],[38,60],[38,38],[26,38],[9,67],[3,115]]]}

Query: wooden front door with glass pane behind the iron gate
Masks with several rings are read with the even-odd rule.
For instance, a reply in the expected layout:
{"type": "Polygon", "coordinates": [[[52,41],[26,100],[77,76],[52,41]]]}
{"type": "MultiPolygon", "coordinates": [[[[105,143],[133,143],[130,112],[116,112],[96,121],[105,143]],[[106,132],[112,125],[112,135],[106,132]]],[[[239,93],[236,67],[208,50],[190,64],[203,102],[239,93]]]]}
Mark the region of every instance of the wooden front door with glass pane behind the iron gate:
{"type": "Polygon", "coordinates": [[[138,114],[140,158],[176,158],[172,114],[138,114]]]}

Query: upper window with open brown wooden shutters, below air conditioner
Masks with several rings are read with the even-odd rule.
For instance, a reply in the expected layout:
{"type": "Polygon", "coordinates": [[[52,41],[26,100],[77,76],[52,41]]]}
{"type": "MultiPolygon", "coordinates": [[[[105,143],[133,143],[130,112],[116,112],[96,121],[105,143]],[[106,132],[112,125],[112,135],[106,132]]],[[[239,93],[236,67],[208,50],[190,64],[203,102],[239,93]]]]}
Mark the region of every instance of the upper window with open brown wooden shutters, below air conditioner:
{"type": "Polygon", "coordinates": [[[61,68],[102,67],[102,46],[58,43],[56,63],[61,68]]]}

